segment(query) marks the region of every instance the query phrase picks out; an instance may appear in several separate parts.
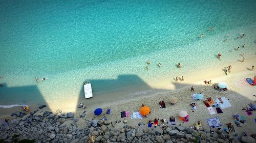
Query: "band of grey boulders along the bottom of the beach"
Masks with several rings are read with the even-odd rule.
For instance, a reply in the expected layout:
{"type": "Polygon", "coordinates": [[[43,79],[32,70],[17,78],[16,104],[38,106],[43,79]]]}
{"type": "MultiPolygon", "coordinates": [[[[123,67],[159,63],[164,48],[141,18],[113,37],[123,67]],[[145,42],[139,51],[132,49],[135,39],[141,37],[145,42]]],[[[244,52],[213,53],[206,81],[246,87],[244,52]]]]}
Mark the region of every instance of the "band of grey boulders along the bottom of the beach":
{"type": "MultiPolygon", "coordinates": [[[[10,142],[14,134],[20,139],[35,139],[36,142],[243,142],[255,143],[250,136],[230,135],[220,130],[196,131],[191,127],[181,125],[159,126],[148,128],[140,122],[133,128],[123,122],[108,120],[87,121],[87,127],[78,129],[77,121],[72,112],[67,115],[55,115],[45,111],[42,115],[35,116],[31,112],[29,116],[20,119],[20,113],[13,113],[17,118],[9,125],[0,125],[0,138],[10,142]]],[[[84,117],[83,112],[80,117],[84,117]]]]}

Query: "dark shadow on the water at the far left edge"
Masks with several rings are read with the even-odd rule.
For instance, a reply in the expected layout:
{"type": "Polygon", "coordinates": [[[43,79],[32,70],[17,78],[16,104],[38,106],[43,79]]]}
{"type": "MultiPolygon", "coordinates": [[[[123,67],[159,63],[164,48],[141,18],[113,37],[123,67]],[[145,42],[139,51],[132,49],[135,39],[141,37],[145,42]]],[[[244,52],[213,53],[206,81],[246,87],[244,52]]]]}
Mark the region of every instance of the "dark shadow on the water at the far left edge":
{"type": "MultiPolygon", "coordinates": [[[[0,88],[1,105],[26,104],[47,105],[36,85],[24,87],[8,87],[4,84],[0,88]]],[[[48,105],[47,105],[48,107],[48,105]]]]}

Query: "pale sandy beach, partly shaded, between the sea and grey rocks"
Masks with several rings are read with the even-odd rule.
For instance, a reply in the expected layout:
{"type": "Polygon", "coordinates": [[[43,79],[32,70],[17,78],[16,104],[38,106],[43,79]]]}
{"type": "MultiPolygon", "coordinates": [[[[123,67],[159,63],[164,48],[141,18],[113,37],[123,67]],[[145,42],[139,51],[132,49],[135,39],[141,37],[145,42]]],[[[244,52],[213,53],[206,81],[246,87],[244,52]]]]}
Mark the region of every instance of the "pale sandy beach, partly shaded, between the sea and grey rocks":
{"type": "MultiPolygon", "coordinates": [[[[109,121],[116,120],[127,120],[127,123],[130,126],[136,127],[139,122],[147,123],[149,120],[158,119],[166,119],[168,121],[170,116],[176,117],[176,124],[182,124],[185,126],[193,126],[197,121],[201,121],[203,128],[208,129],[209,126],[206,122],[206,119],[219,117],[220,122],[223,126],[226,126],[226,123],[232,123],[236,130],[236,133],[242,133],[243,131],[247,131],[249,134],[255,133],[256,124],[254,119],[256,118],[256,112],[253,111],[253,115],[247,116],[246,112],[242,110],[243,107],[248,106],[248,103],[253,103],[256,105],[256,97],[253,95],[256,94],[255,86],[252,87],[248,83],[245,82],[245,78],[252,78],[256,75],[256,71],[251,71],[250,68],[252,65],[256,65],[256,56],[246,59],[245,62],[234,61],[233,63],[225,63],[221,67],[215,67],[212,69],[202,69],[201,71],[196,71],[192,74],[185,74],[184,81],[175,81],[173,77],[169,77],[168,79],[164,79],[161,82],[150,82],[148,85],[153,87],[154,89],[159,90],[157,94],[145,94],[142,96],[134,96],[129,100],[119,100],[110,103],[104,103],[101,105],[94,105],[87,107],[86,109],[78,109],[76,100],[74,102],[70,102],[72,100],[67,99],[67,103],[61,103],[63,108],[59,108],[59,106],[50,105],[50,107],[39,109],[37,114],[44,110],[51,110],[53,113],[56,113],[57,109],[62,110],[62,113],[66,113],[71,111],[72,108],[75,112],[75,118],[79,118],[79,115],[86,110],[87,115],[83,120],[78,121],[78,125],[80,128],[86,126],[84,120],[91,121],[93,119],[102,119],[105,115],[103,113],[106,109],[111,108],[111,115],[106,115],[105,117],[109,121]],[[224,67],[228,65],[232,65],[232,72],[228,75],[223,71],[224,67]],[[224,81],[228,84],[228,91],[217,91],[214,90],[212,84],[208,85],[203,82],[203,80],[211,80],[211,82],[219,83],[224,81]],[[191,92],[190,87],[193,86],[195,92],[191,92]],[[204,94],[205,100],[207,97],[211,97],[212,99],[218,99],[219,97],[226,97],[231,104],[231,107],[222,109],[223,113],[210,115],[208,109],[204,105],[203,101],[193,100],[191,98],[191,94],[193,93],[202,93],[204,94]],[[178,103],[175,105],[171,105],[169,102],[170,97],[177,97],[178,103]],[[158,104],[159,101],[165,101],[166,108],[161,109],[158,104]],[[189,105],[191,102],[197,103],[197,110],[192,112],[191,106],[189,105]],[[151,113],[149,117],[143,117],[142,120],[132,120],[131,116],[134,111],[138,111],[141,107],[141,104],[144,103],[146,106],[151,108],[151,113]],[[64,106],[65,105],[65,106],[64,106]],[[102,115],[96,117],[93,113],[93,110],[96,107],[103,108],[102,115]],[[189,115],[189,122],[183,123],[178,120],[179,111],[186,110],[189,115]],[[130,117],[121,118],[121,111],[130,111],[130,117]],[[244,116],[246,119],[245,124],[241,124],[242,127],[237,127],[234,124],[234,120],[232,118],[233,114],[239,114],[240,116],[244,116]]],[[[178,76],[178,75],[177,75],[178,76]]],[[[179,75],[181,77],[181,75],[179,75]]],[[[36,106],[31,106],[32,111],[36,110],[36,106]]],[[[19,111],[19,107],[15,108],[1,108],[1,119],[10,118],[11,112],[19,111]]],[[[215,109],[216,111],[216,109],[215,109]]]]}

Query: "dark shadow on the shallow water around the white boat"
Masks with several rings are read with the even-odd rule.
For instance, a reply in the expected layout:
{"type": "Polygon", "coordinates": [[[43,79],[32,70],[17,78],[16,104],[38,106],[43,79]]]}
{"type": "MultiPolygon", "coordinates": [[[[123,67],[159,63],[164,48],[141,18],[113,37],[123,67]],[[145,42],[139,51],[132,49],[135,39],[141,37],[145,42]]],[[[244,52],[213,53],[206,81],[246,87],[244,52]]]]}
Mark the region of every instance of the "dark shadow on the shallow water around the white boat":
{"type": "Polygon", "coordinates": [[[136,91],[151,90],[151,87],[135,74],[118,75],[116,79],[87,79],[84,82],[88,81],[92,83],[93,97],[85,99],[82,87],[77,103],[85,102],[86,105],[91,106],[127,98],[131,91],[135,93],[136,91]]]}

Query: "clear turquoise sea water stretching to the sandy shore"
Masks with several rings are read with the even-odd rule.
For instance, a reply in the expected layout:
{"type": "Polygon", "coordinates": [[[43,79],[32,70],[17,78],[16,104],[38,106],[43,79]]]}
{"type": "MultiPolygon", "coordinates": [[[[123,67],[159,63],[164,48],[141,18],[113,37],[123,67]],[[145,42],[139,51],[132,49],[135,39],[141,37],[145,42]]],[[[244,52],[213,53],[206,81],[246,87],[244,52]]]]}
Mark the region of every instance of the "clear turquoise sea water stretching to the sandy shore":
{"type": "Polygon", "coordinates": [[[150,89],[147,81],[247,58],[256,52],[255,8],[256,1],[0,1],[0,105],[81,98],[87,80],[91,104],[108,102],[106,93],[138,93],[150,89]],[[36,84],[35,76],[49,79],[36,84]]]}

